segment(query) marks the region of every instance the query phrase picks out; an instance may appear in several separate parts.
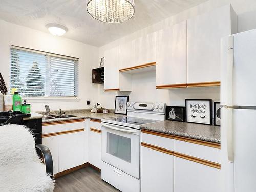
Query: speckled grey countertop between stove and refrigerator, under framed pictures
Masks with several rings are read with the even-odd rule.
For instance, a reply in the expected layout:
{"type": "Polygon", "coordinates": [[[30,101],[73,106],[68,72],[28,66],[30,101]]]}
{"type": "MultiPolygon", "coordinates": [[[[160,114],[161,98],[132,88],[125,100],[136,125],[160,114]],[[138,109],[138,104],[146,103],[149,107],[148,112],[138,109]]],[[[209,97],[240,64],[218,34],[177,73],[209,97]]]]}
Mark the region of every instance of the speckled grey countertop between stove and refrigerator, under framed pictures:
{"type": "Polygon", "coordinates": [[[140,128],[208,142],[221,142],[219,126],[210,126],[176,121],[159,121],[156,123],[141,125],[140,128]]]}

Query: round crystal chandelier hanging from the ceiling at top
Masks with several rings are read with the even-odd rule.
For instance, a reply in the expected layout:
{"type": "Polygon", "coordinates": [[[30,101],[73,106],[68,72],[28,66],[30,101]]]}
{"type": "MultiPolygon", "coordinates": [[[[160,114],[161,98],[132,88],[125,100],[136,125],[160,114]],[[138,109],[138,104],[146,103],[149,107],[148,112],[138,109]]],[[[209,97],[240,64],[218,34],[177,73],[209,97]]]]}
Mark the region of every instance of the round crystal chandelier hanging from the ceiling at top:
{"type": "Polygon", "coordinates": [[[106,23],[120,23],[134,15],[134,0],[87,0],[88,13],[106,23]]]}

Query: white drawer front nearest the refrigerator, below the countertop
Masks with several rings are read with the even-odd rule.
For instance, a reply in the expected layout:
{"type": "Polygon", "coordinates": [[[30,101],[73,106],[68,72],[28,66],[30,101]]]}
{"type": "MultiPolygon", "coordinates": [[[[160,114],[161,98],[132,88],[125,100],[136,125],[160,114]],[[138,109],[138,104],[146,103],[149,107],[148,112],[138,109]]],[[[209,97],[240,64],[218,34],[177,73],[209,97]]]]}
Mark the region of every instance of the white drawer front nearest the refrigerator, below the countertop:
{"type": "Polygon", "coordinates": [[[221,157],[220,157],[221,154],[220,154],[219,148],[204,146],[200,144],[194,144],[194,143],[175,139],[174,151],[184,155],[200,158],[200,159],[215,162],[215,163],[221,162],[221,157]]]}

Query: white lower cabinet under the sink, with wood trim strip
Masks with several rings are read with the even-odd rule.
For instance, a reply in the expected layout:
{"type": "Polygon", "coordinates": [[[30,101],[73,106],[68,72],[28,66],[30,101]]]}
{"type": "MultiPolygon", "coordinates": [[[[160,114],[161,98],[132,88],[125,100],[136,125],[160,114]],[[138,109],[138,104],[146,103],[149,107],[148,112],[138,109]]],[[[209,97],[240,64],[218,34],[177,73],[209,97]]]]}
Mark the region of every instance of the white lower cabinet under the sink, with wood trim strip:
{"type": "Polygon", "coordinates": [[[50,149],[53,159],[53,173],[84,164],[86,131],[84,120],[42,126],[42,144],[50,149]]]}

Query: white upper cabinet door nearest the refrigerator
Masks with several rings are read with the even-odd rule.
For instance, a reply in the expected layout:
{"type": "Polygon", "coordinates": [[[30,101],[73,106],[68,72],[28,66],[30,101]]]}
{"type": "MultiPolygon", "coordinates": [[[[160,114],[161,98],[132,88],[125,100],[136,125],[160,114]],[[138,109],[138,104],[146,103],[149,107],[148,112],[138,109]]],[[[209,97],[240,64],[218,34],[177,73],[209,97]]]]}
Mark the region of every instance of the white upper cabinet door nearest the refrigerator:
{"type": "Polygon", "coordinates": [[[188,84],[220,81],[221,38],[230,26],[230,6],[187,20],[188,84]]]}

